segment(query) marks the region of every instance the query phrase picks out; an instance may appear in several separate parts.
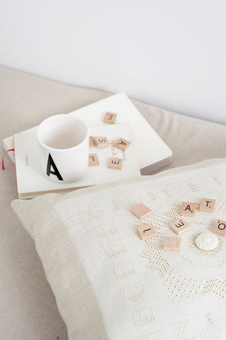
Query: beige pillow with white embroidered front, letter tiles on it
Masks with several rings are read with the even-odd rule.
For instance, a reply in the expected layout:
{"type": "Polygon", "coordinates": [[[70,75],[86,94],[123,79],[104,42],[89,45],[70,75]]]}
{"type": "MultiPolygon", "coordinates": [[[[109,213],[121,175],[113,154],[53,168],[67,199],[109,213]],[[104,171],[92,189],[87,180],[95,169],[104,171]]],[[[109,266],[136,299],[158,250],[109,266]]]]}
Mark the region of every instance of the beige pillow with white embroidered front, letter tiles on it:
{"type": "Polygon", "coordinates": [[[225,238],[208,252],[194,244],[226,220],[225,165],[208,160],[11,203],[35,239],[70,340],[225,339],[225,238]],[[202,197],[217,200],[215,212],[185,217],[181,250],[163,251],[180,204],[202,197]],[[130,212],[141,202],[153,210],[145,220],[130,212]],[[136,227],[148,222],[157,237],[142,241],[136,227]]]}

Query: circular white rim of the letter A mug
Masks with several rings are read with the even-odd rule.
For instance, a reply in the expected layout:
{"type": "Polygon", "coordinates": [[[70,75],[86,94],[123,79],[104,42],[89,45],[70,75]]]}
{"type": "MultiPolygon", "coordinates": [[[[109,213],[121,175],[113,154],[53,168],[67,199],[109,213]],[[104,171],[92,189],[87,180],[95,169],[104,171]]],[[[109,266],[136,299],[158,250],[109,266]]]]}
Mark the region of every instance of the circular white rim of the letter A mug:
{"type": "Polygon", "coordinates": [[[42,145],[42,147],[45,147],[46,149],[54,150],[54,151],[57,151],[57,152],[64,152],[64,151],[76,149],[76,147],[80,147],[83,144],[83,142],[85,142],[87,137],[89,137],[89,128],[88,128],[87,123],[85,123],[84,120],[78,119],[78,118],[73,117],[71,115],[69,115],[69,116],[67,116],[67,115],[68,115],[68,113],[60,113],[59,115],[51,115],[50,117],[42,120],[42,122],[40,123],[40,125],[37,128],[37,141],[40,143],[40,145],[42,145]],[[75,145],[74,147],[68,147],[66,149],[57,149],[55,147],[49,147],[48,145],[44,144],[44,142],[42,142],[42,140],[40,139],[40,129],[42,128],[42,125],[44,125],[44,123],[46,123],[47,120],[52,120],[53,118],[60,117],[60,116],[64,117],[64,118],[65,117],[66,118],[72,118],[73,120],[77,120],[78,122],[83,123],[83,125],[85,125],[86,134],[85,134],[85,137],[82,140],[82,142],[80,142],[79,144],[75,145]]]}

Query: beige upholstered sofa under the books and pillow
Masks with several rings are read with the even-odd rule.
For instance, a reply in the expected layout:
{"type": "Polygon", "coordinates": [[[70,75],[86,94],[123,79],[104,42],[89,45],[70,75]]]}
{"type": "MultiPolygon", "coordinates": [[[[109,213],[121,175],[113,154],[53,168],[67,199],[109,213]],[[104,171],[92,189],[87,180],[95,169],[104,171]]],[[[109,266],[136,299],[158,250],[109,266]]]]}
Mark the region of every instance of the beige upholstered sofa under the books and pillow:
{"type": "MultiPolygon", "coordinates": [[[[39,124],[49,115],[69,113],[109,96],[0,67],[1,140],[39,124]]],[[[165,169],[225,157],[226,127],[133,101],[173,151],[165,169]]],[[[4,149],[1,145],[1,154],[4,149]]],[[[66,327],[44,276],[35,243],[10,207],[17,198],[15,167],[1,170],[0,339],[66,340],[66,327]]]]}

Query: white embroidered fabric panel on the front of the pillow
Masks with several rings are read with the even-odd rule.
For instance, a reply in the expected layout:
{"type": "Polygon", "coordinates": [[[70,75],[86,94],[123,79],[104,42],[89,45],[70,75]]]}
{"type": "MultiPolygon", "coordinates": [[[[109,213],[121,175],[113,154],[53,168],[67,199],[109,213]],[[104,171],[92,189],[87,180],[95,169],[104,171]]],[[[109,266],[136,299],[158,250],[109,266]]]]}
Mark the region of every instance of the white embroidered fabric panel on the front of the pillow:
{"type": "Polygon", "coordinates": [[[225,168],[214,165],[54,204],[93,285],[109,339],[224,339],[226,238],[208,252],[194,241],[215,220],[225,220],[225,188],[225,168]],[[199,212],[202,197],[217,200],[215,212],[199,212]],[[185,217],[191,229],[182,235],[181,251],[164,251],[182,201],[197,203],[195,217],[185,217]],[[137,203],[153,214],[138,220],[130,212],[137,203]],[[157,237],[141,241],[136,227],[150,222],[157,237]]]}

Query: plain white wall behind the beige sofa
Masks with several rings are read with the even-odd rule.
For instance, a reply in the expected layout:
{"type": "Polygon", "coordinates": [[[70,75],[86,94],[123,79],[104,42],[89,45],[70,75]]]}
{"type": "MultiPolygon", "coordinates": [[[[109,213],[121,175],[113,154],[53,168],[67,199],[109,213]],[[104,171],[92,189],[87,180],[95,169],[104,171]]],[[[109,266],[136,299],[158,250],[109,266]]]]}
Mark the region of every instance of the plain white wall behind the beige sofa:
{"type": "Polygon", "coordinates": [[[226,124],[224,0],[0,0],[0,63],[226,124]]]}

